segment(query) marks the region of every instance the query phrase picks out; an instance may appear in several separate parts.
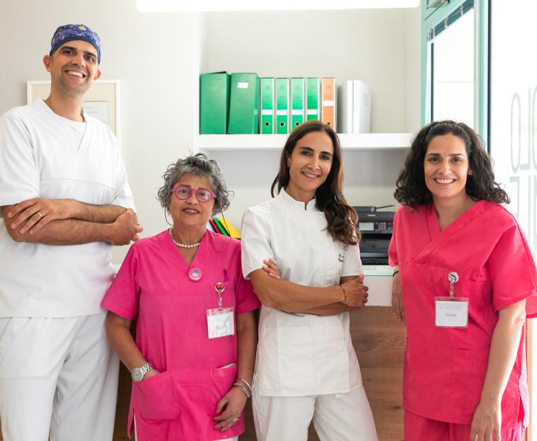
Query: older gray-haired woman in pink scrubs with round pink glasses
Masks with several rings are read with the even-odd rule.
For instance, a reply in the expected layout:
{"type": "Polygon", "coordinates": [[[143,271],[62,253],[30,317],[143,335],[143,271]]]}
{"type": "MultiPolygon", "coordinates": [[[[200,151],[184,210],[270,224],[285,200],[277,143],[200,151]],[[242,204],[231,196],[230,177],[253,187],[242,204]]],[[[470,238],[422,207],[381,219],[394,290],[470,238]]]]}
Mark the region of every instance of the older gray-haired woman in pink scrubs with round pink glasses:
{"type": "Polygon", "coordinates": [[[180,159],[164,179],[158,198],[172,227],[132,245],[102,302],[133,378],[127,431],[134,420],[138,441],[237,440],[260,303],[242,277],[240,242],[207,231],[229,206],[215,161],[180,159]]]}

